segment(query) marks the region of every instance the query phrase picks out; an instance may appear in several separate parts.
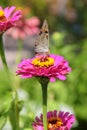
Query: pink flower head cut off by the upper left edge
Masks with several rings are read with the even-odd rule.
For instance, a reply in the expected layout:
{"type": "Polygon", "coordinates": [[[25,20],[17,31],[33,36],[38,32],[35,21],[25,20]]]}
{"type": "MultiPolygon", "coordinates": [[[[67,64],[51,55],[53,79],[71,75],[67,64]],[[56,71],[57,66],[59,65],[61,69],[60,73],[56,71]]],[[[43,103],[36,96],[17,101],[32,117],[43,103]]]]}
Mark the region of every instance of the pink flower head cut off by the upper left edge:
{"type": "Polygon", "coordinates": [[[6,31],[10,27],[16,25],[16,22],[21,18],[21,10],[16,11],[15,6],[6,7],[3,9],[0,6],[0,33],[6,31]]]}

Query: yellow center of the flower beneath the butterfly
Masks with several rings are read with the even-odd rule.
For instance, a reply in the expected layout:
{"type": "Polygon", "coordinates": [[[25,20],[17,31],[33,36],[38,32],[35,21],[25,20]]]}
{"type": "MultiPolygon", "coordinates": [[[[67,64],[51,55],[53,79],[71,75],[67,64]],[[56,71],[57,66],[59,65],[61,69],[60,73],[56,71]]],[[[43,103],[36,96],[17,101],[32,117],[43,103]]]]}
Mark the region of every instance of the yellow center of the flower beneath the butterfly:
{"type": "Polygon", "coordinates": [[[32,61],[32,64],[37,67],[49,67],[54,64],[54,59],[51,57],[38,57],[32,61]]]}

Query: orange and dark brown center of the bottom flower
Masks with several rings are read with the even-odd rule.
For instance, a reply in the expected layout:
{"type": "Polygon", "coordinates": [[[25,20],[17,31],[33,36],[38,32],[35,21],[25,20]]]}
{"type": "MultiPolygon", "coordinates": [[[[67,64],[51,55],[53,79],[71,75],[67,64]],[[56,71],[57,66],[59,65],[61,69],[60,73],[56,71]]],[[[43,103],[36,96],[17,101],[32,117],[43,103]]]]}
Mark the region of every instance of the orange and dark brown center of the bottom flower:
{"type": "Polygon", "coordinates": [[[62,126],[63,122],[61,118],[52,117],[48,119],[48,130],[56,130],[58,127],[62,126]]]}

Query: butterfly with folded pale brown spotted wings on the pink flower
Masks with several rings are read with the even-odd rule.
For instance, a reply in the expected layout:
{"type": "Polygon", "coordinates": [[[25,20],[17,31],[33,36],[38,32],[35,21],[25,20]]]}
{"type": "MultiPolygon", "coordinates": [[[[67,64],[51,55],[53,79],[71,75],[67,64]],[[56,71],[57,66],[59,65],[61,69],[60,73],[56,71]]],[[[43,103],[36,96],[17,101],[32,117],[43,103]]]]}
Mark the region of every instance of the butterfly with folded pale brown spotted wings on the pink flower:
{"type": "Polygon", "coordinates": [[[46,20],[44,20],[35,41],[35,53],[38,55],[49,55],[49,29],[46,20]]]}

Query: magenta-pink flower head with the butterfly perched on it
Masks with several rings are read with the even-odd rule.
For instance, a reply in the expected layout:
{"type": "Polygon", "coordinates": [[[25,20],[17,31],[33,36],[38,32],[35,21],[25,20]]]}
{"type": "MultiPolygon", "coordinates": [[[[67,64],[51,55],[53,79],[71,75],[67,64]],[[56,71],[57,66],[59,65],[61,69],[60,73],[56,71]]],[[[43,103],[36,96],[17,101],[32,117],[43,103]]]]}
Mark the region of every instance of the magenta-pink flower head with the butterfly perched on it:
{"type": "Polygon", "coordinates": [[[54,82],[56,78],[65,80],[66,75],[71,71],[68,61],[54,54],[25,59],[18,68],[16,74],[21,75],[22,78],[47,77],[51,82],[54,82]]]}

